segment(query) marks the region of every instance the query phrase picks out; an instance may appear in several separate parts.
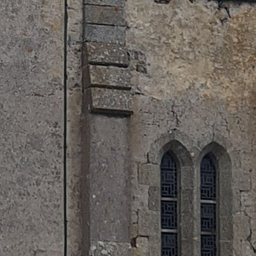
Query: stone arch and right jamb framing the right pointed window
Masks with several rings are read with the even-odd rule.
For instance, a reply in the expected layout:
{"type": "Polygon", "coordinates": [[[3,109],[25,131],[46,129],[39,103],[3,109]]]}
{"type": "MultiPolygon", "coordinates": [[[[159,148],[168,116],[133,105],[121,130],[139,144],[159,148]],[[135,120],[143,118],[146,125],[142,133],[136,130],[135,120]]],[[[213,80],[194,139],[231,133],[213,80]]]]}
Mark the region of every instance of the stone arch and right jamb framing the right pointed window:
{"type": "MultiPolygon", "coordinates": [[[[211,154],[217,173],[217,227],[216,256],[233,255],[233,192],[232,162],[227,150],[216,141],[206,145],[200,152],[196,168],[200,177],[200,164],[203,157],[211,154]]],[[[201,248],[201,246],[200,246],[201,248]]]]}

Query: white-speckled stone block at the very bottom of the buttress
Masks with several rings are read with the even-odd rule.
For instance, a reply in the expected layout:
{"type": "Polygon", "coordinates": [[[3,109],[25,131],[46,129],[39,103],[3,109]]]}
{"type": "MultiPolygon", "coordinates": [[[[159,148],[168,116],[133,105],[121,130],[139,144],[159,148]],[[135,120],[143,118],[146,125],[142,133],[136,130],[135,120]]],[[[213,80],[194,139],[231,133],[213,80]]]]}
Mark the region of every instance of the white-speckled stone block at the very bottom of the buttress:
{"type": "MultiPolygon", "coordinates": [[[[131,244],[111,243],[102,241],[92,241],[90,256],[129,256],[131,255],[131,244]]],[[[141,255],[142,256],[142,255],[141,255]]]]}

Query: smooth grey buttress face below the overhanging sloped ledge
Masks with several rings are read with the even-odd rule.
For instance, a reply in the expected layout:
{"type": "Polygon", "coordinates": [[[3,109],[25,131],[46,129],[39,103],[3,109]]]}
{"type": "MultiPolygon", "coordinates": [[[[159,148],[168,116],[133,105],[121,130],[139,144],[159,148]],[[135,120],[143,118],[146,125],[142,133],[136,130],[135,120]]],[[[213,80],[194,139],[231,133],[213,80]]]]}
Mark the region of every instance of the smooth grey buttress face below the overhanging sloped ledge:
{"type": "Polygon", "coordinates": [[[128,118],[90,118],[90,237],[94,241],[129,243],[128,118]]]}

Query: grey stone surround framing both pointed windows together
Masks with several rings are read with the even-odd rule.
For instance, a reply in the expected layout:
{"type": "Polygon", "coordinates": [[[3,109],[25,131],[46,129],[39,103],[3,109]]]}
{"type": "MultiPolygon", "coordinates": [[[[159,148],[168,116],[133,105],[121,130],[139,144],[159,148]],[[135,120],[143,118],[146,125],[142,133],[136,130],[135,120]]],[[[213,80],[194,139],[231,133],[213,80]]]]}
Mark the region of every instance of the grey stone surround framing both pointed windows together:
{"type": "MultiPolygon", "coordinates": [[[[218,245],[217,256],[233,255],[233,191],[232,191],[232,163],[228,150],[220,145],[230,145],[222,136],[216,138],[200,138],[191,140],[182,132],[166,133],[154,141],[148,152],[148,164],[159,166],[165,152],[171,151],[178,160],[180,170],[180,212],[179,214],[179,256],[200,255],[200,163],[202,158],[211,153],[216,159],[218,174],[218,245]],[[214,140],[215,139],[215,140],[214,140]],[[218,140],[220,139],[220,140],[218,140]],[[196,145],[196,146],[195,146],[196,145]],[[199,146],[198,146],[199,145],[199,146]],[[201,146],[201,147],[200,147],[201,146]],[[184,177],[186,176],[186,179],[184,177]],[[182,198],[182,200],[181,200],[182,198]],[[192,204],[191,204],[192,202],[192,204]],[[227,204],[228,202],[228,204],[227,204]],[[189,207],[188,207],[189,205],[189,207]],[[192,214],[191,214],[192,213],[192,214]],[[192,215],[192,217],[191,217],[192,215]],[[186,225],[184,225],[186,223],[186,225]],[[228,224],[227,224],[228,223],[228,224]]],[[[231,146],[230,146],[231,147],[231,146]]],[[[150,177],[149,177],[150,179],[150,177]]],[[[161,191],[159,183],[158,191],[161,191]]],[[[159,192],[160,193],[160,192],[159,192]]],[[[160,198],[159,194],[159,198],[160,198]]],[[[148,198],[152,202],[156,198],[148,198]]],[[[149,241],[157,239],[158,243],[152,243],[152,251],[161,255],[161,200],[156,201],[156,218],[159,225],[154,230],[154,236],[148,237],[149,241]],[[159,234],[159,237],[156,237],[159,234]]],[[[156,254],[156,253],[155,253],[156,254]]]]}

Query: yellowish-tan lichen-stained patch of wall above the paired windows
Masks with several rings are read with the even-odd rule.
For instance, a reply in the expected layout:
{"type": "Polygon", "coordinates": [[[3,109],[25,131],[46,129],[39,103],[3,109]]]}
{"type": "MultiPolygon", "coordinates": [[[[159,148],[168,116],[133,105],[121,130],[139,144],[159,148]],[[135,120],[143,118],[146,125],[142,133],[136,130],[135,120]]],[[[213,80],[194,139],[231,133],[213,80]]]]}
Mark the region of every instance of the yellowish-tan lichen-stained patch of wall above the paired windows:
{"type": "Polygon", "coordinates": [[[192,90],[231,110],[255,106],[253,6],[232,6],[231,18],[223,22],[225,12],[212,1],[172,1],[164,8],[146,2],[127,2],[127,45],[150,63],[148,76],[132,77],[134,86],[157,99],[189,97],[192,90]]]}

